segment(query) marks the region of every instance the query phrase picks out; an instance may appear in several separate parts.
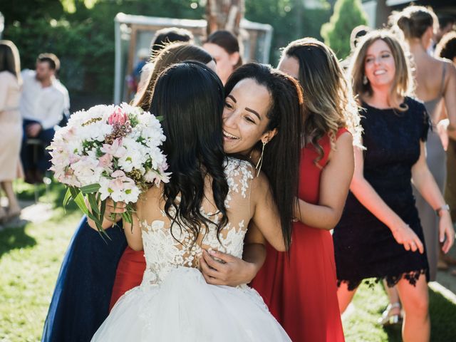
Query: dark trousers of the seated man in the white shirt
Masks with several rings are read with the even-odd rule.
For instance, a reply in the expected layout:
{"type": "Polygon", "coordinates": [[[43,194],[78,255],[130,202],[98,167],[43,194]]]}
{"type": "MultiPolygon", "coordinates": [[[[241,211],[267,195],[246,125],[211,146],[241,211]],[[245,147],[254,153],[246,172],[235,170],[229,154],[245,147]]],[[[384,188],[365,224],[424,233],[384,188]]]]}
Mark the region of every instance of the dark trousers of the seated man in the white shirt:
{"type": "Polygon", "coordinates": [[[38,123],[37,121],[24,119],[22,128],[24,134],[22,135],[22,147],[21,147],[21,161],[24,171],[28,170],[39,170],[43,174],[46,170],[51,167],[51,155],[46,150],[46,147],[51,145],[51,141],[54,138],[56,131],[53,128],[47,130],[41,130],[40,133],[34,138],[29,138],[26,135],[26,127],[31,123],[38,123]],[[38,139],[41,141],[42,146],[28,145],[28,139],[38,139]],[[37,150],[34,150],[37,149],[37,150]]]}

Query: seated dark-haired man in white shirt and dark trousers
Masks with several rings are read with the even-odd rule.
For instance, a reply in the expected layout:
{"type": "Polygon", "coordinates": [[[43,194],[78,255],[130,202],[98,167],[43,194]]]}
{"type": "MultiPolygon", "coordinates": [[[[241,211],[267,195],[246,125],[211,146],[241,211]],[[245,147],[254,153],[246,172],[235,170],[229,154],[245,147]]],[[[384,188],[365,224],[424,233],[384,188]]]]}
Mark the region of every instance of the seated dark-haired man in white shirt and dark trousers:
{"type": "Polygon", "coordinates": [[[21,73],[23,85],[19,109],[24,125],[21,160],[26,182],[41,182],[51,166],[48,152],[44,150],[38,157],[33,156],[36,147],[27,144],[27,140],[41,140],[43,147],[50,145],[54,126],[61,122],[64,111],[69,108],[68,90],[56,79],[59,67],[56,55],[41,53],[36,60],[36,71],[24,70],[21,73]]]}

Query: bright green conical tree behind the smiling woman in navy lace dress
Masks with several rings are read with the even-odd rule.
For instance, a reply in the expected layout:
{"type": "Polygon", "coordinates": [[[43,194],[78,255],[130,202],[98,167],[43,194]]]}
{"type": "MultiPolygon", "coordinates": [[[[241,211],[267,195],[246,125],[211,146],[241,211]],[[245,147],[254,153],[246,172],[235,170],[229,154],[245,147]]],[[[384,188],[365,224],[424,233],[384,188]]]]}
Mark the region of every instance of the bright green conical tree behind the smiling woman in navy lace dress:
{"type": "Polygon", "coordinates": [[[367,16],[361,0],[337,0],[329,22],[321,27],[321,36],[338,58],[350,53],[350,34],[358,25],[367,25],[367,16]]]}

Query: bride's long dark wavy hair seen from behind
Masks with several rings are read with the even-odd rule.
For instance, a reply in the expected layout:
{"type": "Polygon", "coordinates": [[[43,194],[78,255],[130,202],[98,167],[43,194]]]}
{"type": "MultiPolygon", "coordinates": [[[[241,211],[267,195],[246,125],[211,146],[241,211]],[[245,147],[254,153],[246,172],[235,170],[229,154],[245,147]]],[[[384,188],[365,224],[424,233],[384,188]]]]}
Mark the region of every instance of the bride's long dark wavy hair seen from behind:
{"type": "Polygon", "coordinates": [[[165,212],[172,222],[171,234],[175,225],[188,229],[193,236],[192,246],[202,226],[216,224],[218,236],[228,222],[224,204],[228,184],[224,175],[223,103],[224,90],[219,77],[196,61],[165,69],[157,78],[152,94],[150,112],[164,118],[163,150],[172,172],[163,190],[165,212]],[[219,220],[212,221],[200,211],[207,177],[212,180],[214,204],[222,216],[219,220]]]}

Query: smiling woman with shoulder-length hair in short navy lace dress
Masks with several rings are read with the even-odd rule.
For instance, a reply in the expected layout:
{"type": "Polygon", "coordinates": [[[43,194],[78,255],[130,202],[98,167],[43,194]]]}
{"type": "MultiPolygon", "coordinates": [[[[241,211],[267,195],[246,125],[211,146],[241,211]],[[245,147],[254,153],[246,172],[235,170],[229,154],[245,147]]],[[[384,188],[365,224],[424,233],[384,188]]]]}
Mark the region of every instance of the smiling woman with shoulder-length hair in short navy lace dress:
{"type": "Polygon", "coordinates": [[[403,304],[403,341],[427,342],[428,264],[410,180],[440,216],[443,252],[455,239],[425,160],[429,116],[423,103],[409,97],[410,66],[390,33],[368,33],[350,70],[354,93],[366,108],[361,119],[366,150],[355,148],[351,192],[333,234],[339,307],[345,311],[363,279],[385,279],[388,286],[397,285],[403,304]]]}

